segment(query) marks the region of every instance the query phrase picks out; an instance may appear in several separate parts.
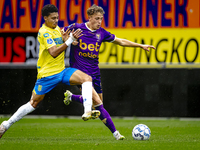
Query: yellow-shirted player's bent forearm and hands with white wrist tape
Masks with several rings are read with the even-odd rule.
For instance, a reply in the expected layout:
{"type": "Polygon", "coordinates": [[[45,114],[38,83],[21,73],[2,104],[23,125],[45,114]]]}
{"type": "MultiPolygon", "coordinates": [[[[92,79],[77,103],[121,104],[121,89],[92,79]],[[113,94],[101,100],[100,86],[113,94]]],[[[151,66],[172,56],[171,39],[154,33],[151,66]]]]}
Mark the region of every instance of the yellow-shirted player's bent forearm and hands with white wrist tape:
{"type": "Polygon", "coordinates": [[[56,47],[56,45],[50,47],[48,49],[50,55],[54,58],[56,58],[58,55],[60,55],[73,41],[77,40],[79,37],[81,37],[82,30],[77,29],[76,31],[72,30],[67,30],[65,33],[62,33],[62,37],[64,39],[64,44],[62,44],[59,47],[56,47]]]}

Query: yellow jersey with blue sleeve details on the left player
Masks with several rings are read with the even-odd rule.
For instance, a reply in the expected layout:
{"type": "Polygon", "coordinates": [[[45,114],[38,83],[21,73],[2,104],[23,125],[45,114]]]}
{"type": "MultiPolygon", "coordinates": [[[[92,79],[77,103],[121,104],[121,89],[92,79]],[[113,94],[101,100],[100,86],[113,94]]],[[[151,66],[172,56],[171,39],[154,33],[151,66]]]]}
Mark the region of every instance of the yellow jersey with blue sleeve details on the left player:
{"type": "Polygon", "coordinates": [[[51,76],[64,70],[65,51],[56,58],[53,58],[48,51],[48,48],[54,45],[59,47],[63,44],[60,28],[57,26],[55,29],[52,29],[43,24],[38,32],[38,42],[39,58],[37,62],[37,78],[40,79],[42,77],[51,76]]]}

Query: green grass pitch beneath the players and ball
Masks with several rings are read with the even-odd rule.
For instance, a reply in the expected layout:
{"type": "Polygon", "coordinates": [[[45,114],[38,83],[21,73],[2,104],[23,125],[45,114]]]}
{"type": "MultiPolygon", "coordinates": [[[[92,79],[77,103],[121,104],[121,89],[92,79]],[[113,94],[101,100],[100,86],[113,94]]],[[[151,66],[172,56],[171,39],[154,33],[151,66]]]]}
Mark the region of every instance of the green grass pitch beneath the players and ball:
{"type": "MultiPolygon", "coordinates": [[[[7,118],[0,118],[0,122],[7,118]]],[[[0,150],[194,150],[200,149],[200,121],[179,119],[113,119],[126,139],[117,141],[99,120],[24,118],[0,139],[0,150]],[[136,141],[135,125],[151,129],[147,141],[136,141]]]]}

